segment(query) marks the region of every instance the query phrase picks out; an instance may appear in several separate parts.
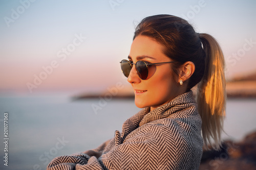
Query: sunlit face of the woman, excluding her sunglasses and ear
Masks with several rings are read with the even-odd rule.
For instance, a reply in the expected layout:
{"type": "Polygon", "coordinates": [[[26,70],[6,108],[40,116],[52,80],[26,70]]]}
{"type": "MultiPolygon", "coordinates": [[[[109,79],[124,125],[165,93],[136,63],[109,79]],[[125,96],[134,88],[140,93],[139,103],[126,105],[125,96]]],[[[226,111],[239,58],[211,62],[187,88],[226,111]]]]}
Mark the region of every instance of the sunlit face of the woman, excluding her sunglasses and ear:
{"type": "MultiPolygon", "coordinates": [[[[146,36],[137,36],[132,43],[128,58],[133,63],[139,60],[147,63],[172,61],[163,54],[162,50],[163,45],[157,41],[146,36]]],[[[149,66],[146,80],[139,78],[133,65],[127,81],[133,86],[137,107],[151,107],[151,110],[154,110],[180,94],[179,84],[172,77],[172,64],[149,66]]]]}

